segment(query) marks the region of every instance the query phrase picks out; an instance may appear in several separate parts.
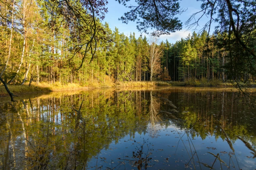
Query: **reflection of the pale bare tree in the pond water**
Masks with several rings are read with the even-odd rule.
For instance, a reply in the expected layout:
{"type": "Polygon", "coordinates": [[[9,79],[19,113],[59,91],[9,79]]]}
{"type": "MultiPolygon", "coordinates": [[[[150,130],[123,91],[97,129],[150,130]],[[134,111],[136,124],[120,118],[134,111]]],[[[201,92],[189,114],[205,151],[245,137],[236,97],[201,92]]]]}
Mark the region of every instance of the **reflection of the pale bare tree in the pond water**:
{"type": "Polygon", "coordinates": [[[155,137],[157,130],[160,130],[160,126],[156,126],[158,122],[161,121],[158,112],[160,110],[160,102],[157,101],[156,97],[152,95],[152,91],[150,91],[150,105],[149,105],[149,113],[147,116],[147,120],[150,121],[150,130],[149,135],[151,137],[155,137]]]}

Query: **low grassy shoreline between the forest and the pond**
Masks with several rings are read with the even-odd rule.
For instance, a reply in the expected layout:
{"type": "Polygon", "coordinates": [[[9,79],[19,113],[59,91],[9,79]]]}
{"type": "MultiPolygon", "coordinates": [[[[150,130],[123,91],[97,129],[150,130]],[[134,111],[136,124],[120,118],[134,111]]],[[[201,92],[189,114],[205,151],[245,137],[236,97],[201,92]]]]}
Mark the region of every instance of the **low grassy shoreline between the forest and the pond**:
{"type": "MultiPolygon", "coordinates": [[[[58,91],[73,91],[73,90],[89,90],[89,89],[109,89],[109,88],[126,88],[126,87],[204,87],[204,88],[232,88],[234,87],[231,83],[216,83],[216,82],[163,82],[163,81],[138,81],[138,82],[120,82],[120,83],[112,83],[110,85],[98,83],[88,86],[82,86],[76,83],[55,83],[55,84],[48,84],[48,83],[39,83],[36,85],[35,83],[28,86],[24,84],[20,85],[9,85],[9,90],[14,95],[21,95],[21,94],[33,94],[33,93],[43,93],[43,92],[58,92],[58,91]]],[[[249,88],[248,88],[249,89],[249,88]]],[[[0,97],[7,97],[9,94],[6,92],[4,86],[0,86],[0,97]]]]}

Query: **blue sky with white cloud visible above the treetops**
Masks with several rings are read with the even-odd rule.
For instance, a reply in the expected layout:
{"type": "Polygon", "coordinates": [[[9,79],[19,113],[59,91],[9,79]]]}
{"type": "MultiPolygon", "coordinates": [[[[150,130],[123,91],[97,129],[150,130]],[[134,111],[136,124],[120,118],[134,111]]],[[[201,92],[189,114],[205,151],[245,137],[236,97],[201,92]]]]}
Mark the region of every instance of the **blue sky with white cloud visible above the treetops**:
{"type": "MultiPolygon", "coordinates": [[[[127,5],[130,5],[130,4],[135,5],[135,2],[131,0],[127,3],[127,5]]],[[[198,2],[196,0],[181,0],[180,7],[187,10],[181,15],[177,15],[177,17],[179,17],[179,20],[182,21],[184,24],[184,22],[188,20],[191,14],[197,11],[200,11],[200,5],[201,5],[201,2],[198,2]]],[[[108,22],[112,31],[115,29],[115,27],[117,27],[119,32],[124,33],[125,35],[130,35],[130,33],[133,33],[133,32],[135,33],[136,37],[140,35],[140,32],[136,28],[136,22],[130,21],[128,24],[124,24],[122,23],[122,21],[118,21],[118,18],[120,18],[125,12],[129,10],[128,8],[119,4],[115,0],[109,0],[109,3],[107,4],[106,7],[108,7],[109,12],[106,14],[106,17],[103,23],[108,22]]],[[[201,27],[198,27],[198,28],[201,29],[203,26],[203,23],[207,21],[208,21],[208,18],[203,17],[200,22],[201,27]]],[[[175,43],[177,40],[180,40],[181,37],[185,38],[188,36],[189,33],[191,34],[193,31],[194,31],[193,29],[186,31],[185,25],[183,25],[183,28],[180,31],[171,33],[170,35],[161,35],[160,41],[162,40],[165,41],[166,39],[168,39],[170,43],[175,43]]],[[[196,30],[196,32],[198,32],[198,30],[196,30]]],[[[146,36],[148,37],[148,35],[146,36]]]]}

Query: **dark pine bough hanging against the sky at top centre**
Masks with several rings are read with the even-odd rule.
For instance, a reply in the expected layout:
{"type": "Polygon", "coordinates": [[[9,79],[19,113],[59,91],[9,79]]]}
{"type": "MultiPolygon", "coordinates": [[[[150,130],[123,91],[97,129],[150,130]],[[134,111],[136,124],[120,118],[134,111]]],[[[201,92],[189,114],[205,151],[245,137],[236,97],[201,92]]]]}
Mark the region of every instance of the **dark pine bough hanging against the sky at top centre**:
{"type": "Polygon", "coordinates": [[[137,29],[148,33],[148,28],[154,28],[151,33],[154,36],[170,34],[182,28],[182,23],[176,17],[184,12],[179,7],[179,0],[138,0],[136,5],[127,5],[129,0],[116,0],[120,4],[130,8],[124,16],[120,18],[123,23],[136,21],[137,29]]]}

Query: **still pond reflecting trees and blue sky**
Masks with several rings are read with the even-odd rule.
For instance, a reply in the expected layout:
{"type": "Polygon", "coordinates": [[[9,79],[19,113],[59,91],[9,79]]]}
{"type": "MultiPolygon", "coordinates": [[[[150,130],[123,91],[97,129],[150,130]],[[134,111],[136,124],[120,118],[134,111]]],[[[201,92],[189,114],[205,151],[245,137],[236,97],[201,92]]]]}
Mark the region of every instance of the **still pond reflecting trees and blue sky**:
{"type": "Polygon", "coordinates": [[[98,89],[18,99],[0,99],[0,169],[256,169],[256,108],[230,89],[98,89]]]}

